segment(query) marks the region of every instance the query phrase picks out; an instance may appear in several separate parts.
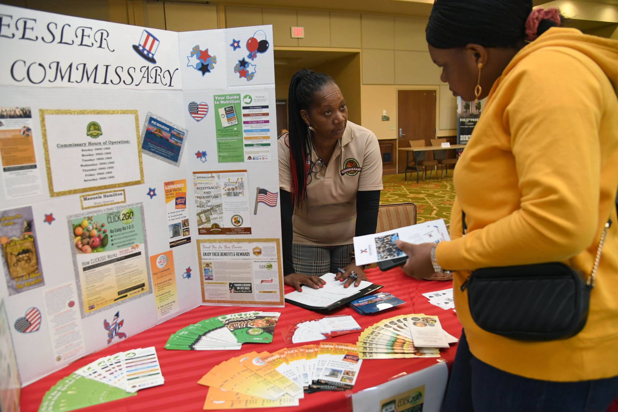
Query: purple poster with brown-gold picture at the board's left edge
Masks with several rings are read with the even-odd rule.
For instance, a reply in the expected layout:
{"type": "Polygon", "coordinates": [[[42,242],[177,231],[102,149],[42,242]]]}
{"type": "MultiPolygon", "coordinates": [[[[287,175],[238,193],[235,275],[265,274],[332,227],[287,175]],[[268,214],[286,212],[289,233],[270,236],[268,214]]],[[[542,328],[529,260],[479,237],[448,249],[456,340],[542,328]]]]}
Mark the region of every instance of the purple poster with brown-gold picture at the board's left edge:
{"type": "Polygon", "coordinates": [[[32,207],[0,212],[0,244],[9,296],[45,285],[32,207]]]}

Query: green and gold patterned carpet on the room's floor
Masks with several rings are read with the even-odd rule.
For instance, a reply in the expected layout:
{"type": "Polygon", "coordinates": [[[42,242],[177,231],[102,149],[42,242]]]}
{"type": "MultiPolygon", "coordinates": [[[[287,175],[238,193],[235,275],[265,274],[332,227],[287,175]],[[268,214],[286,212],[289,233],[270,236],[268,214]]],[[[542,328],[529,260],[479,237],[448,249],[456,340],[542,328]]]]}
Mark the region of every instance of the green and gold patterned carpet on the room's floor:
{"type": "MultiPolygon", "coordinates": [[[[453,171],[444,179],[427,178],[423,176],[417,183],[416,173],[408,174],[408,181],[404,181],[404,174],[387,174],[382,176],[384,189],[380,195],[380,204],[412,202],[417,205],[418,223],[426,220],[442,218],[446,223],[451,221],[451,207],[455,199],[453,187],[453,171]]],[[[438,173],[438,176],[442,176],[438,173]]]]}

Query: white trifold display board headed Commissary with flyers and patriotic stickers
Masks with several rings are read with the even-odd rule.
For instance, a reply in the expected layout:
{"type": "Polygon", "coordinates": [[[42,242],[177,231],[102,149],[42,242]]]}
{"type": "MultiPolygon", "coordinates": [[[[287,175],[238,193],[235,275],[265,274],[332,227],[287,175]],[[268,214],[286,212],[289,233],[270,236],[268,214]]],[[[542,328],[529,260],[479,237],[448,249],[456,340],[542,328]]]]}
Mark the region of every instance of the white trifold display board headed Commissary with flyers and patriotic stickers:
{"type": "Polygon", "coordinates": [[[0,319],[22,385],[200,304],[283,306],[271,26],[0,5],[0,50],[0,319]]]}

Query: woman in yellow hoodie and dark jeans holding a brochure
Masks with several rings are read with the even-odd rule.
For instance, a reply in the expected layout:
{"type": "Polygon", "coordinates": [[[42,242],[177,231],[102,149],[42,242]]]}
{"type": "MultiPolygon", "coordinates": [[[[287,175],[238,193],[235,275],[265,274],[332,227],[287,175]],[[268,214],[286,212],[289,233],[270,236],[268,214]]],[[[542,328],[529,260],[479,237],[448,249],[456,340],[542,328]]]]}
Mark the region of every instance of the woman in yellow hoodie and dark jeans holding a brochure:
{"type": "Polygon", "coordinates": [[[444,411],[604,412],[618,396],[618,42],[560,22],[530,0],[436,0],[431,11],[441,80],[465,101],[488,97],[455,168],[452,240],[398,244],[414,277],[454,271],[465,333],[444,411]],[[471,270],[564,262],[590,275],[608,217],[581,332],[518,341],[475,324],[460,290],[471,270]]]}

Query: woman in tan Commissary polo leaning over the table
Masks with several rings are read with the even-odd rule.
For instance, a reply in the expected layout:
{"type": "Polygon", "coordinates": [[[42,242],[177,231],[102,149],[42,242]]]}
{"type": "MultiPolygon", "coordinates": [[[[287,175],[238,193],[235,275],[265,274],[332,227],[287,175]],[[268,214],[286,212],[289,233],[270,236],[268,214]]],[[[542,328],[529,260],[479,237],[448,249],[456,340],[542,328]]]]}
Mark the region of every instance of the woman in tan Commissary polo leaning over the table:
{"type": "Polygon", "coordinates": [[[376,230],[378,139],[347,120],[341,90],[327,74],[294,74],[288,104],[289,132],[278,140],[285,283],[318,289],[320,276],[331,272],[346,287],[358,286],[366,277],[352,238],[376,230]]]}

